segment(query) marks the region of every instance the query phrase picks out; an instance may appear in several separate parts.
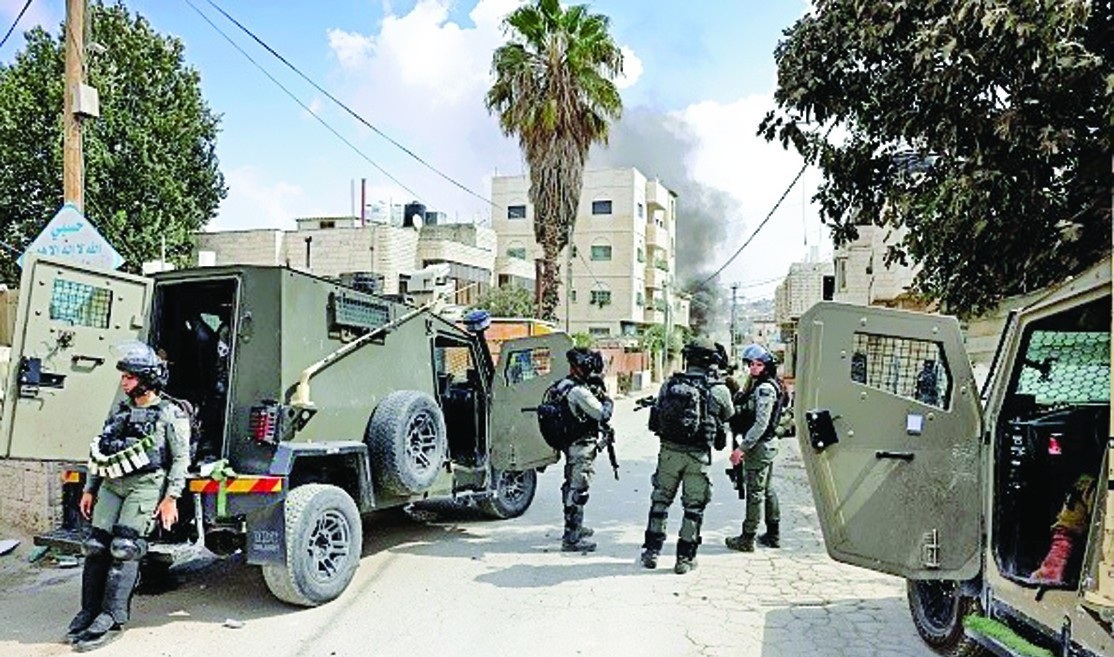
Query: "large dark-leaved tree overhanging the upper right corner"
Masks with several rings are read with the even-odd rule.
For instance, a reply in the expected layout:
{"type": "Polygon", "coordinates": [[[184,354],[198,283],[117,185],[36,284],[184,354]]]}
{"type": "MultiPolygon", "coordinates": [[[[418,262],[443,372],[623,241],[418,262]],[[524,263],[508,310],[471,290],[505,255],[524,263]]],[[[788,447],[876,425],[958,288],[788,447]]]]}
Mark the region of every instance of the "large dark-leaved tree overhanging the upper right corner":
{"type": "Polygon", "coordinates": [[[820,0],[760,133],[823,171],[837,243],[902,228],[888,262],[977,313],[1110,252],[1112,42],[1110,0],[820,0]]]}

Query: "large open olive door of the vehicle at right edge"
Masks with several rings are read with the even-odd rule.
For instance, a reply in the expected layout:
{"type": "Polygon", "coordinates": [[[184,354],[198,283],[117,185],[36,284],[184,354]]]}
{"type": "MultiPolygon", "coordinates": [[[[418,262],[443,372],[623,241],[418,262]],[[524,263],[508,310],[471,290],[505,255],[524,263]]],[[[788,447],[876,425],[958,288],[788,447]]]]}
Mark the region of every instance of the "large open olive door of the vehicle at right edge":
{"type": "Polygon", "coordinates": [[[798,341],[798,437],[831,557],[978,575],[981,412],[958,322],[824,302],[798,341]]]}

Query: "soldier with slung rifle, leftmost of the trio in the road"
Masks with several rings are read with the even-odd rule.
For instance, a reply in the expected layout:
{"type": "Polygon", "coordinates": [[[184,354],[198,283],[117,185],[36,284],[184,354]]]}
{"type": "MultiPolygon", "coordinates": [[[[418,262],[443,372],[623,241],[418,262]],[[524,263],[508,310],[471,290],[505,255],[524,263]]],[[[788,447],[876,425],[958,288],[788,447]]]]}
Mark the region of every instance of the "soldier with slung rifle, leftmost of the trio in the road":
{"type": "Polygon", "coordinates": [[[588,487],[595,472],[594,462],[599,453],[599,431],[612,419],[614,403],[604,386],[604,359],[597,351],[586,347],[570,349],[566,354],[569,374],[557,389],[565,395],[568,414],[566,431],[570,442],[565,453],[565,482],[561,501],[565,504],[565,532],[561,550],[590,552],[596,543],[587,540],[595,533],[584,526],[584,507],[588,503],[588,487]],[[564,390],[563,390],[564,389],[564,390]]]}

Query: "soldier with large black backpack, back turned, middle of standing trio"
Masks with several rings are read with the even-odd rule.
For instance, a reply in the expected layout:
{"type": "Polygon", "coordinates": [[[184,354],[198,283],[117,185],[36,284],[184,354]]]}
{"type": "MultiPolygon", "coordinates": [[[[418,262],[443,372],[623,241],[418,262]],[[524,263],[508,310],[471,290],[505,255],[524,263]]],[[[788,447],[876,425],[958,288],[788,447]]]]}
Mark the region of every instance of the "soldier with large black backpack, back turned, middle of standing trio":
{"type": "Polygon", "coordinates": [[[716,367],[726,367],[723,350],[706,339],[682,351],[684,373],[673,374],[662,385],[649,410],[649,430],[661,438],[657,470],[651,483],[649,518],[643,542],[642,565],[657,568],[665,542],[665,520],[681,490],[681,520],[677,560],[673,571],[684,575],[696,567],[696,548],[704,508],[712,500],[712,447],[723,449],[727,420],[735,413],[731,392],[720,381],[716,367]]]}

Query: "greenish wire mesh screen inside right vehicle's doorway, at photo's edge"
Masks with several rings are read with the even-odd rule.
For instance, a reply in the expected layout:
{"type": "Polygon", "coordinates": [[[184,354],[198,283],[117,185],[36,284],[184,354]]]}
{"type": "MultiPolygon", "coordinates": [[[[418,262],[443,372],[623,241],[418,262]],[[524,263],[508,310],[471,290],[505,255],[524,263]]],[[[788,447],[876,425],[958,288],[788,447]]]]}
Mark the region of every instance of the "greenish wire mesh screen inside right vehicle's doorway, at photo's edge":
{"type": "Polygon", "coordinates": [[[1034,331],[1025,350],[1017,392],[1038,404],[1107,403],[1111,334],[1034,331]]]}

